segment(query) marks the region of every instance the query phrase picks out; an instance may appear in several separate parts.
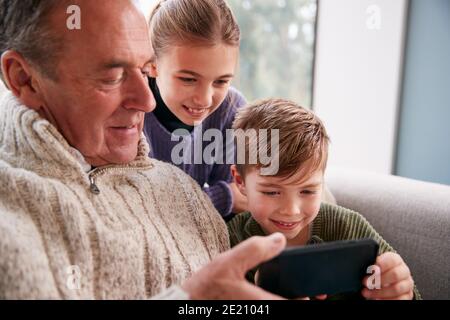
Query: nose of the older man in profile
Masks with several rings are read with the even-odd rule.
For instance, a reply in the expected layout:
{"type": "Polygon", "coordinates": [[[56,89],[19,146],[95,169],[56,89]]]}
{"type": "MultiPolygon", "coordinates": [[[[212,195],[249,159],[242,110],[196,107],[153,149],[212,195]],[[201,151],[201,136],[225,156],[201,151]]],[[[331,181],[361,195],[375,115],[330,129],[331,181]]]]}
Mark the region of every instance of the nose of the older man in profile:
{"type": "Polygon", "coordinates": [[[140,72],[130,75],[125,90],[128,97],[124,103],[125,108],[143,112],[152,112],[155,109],[156,101],[148,85],[148,78],[140,72]]]}

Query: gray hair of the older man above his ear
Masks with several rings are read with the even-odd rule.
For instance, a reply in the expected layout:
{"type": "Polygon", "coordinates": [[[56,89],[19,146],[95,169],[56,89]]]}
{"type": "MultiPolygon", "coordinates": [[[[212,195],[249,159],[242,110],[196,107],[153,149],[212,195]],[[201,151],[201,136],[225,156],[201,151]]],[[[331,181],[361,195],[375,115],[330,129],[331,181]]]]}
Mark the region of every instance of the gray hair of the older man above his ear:
{"type": "MultiPolygon", "coordinates": [[[[41,74],[56,79],[55,65],[62,51],[62,33],[48,23],[61,0],[0,0],[0,55],[20,53],[41,74]]],[[[3,79],[3,74],[0,76],[3,79]]]]}

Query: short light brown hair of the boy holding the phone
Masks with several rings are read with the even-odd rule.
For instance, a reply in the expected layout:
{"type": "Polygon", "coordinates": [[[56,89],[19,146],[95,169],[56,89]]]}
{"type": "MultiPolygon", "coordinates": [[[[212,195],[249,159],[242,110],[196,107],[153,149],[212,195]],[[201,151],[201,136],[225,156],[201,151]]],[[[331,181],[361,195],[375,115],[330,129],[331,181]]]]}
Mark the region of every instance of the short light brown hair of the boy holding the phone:
{"type": "MultiPolygon", "coordinates": [[[[260,129],[279,130],[279,167],[276,176],[290,178],[299,170],[306,168],[311,174],[317,170],[325,170],[328,159],[329,137],[322,121],[310,110],[283,99],[267,99],[256,101],[241,109],[233,123],[233,129],[243,132],[260,129]]],[[[269,138],[270,139],[270,138],[269,138]]],[[[236,164],[237,171],[245,176],[252,167],[264,167],[259,161],[261,145],[251,139],[245,140],[245,164],[236,164]],[[252,147],[252,146],[257,146],[252,147]],[[253,154],[253,155],[251,155],[253,154]],[[257,164],[249,164],[247,159],[258,159],[257,164]]],[[[264,144],[271,154],[269,144],[264,144]]],[[[273,156],[273,155],[272,155],[273,156]]]]}

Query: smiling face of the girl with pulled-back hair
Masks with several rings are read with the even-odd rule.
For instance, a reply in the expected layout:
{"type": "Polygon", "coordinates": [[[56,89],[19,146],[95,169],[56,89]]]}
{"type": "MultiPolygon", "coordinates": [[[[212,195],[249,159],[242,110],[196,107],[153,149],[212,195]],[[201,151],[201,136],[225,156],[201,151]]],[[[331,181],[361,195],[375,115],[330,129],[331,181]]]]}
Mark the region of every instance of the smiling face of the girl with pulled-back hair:
{"type": "Polygon", "coordinates": [[[198,125],[227,96],[239,47],[172,46],[156,58],[151,76],[169,110],[187,125],[198,125]]]}

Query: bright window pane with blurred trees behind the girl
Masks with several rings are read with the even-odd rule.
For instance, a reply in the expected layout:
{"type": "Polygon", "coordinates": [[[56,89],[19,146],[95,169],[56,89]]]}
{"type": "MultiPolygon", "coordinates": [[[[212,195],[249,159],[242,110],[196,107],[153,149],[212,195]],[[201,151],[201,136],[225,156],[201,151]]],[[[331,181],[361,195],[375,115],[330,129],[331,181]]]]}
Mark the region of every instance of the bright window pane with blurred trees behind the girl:
{"type": "Polygon", "coordinates": [[[228,0],[241,28],[234,85],[246,98],[312,103],[316,0],[228,0]]]}

